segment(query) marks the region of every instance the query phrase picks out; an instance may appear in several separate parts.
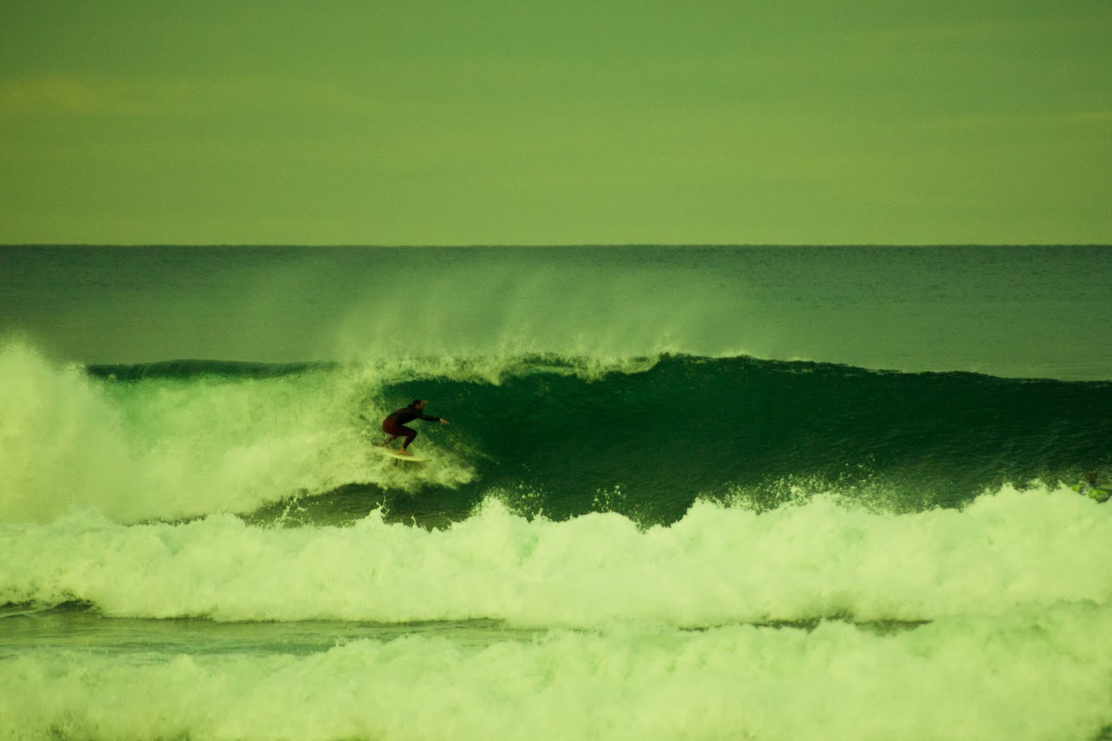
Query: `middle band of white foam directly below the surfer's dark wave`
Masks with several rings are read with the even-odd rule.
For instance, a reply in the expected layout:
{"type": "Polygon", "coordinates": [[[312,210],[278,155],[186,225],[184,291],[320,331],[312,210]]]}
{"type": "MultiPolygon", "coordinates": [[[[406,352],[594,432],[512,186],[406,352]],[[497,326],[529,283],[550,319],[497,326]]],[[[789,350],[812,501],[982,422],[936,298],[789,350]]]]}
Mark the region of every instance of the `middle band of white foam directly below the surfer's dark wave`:
{"type": "Polygon", "coordinates": [[[107,614],[714,625],[850,614],[924,620],[1112,602],[1112,508],[1068,490],[880,514],[815,498],[763,514],[707,502],[671,527],[615,513],[528,521],[490,501],[448,530],[256,528],[230,515],[0,525],[0,602],[107,614]]]}

